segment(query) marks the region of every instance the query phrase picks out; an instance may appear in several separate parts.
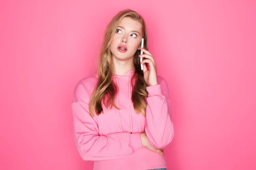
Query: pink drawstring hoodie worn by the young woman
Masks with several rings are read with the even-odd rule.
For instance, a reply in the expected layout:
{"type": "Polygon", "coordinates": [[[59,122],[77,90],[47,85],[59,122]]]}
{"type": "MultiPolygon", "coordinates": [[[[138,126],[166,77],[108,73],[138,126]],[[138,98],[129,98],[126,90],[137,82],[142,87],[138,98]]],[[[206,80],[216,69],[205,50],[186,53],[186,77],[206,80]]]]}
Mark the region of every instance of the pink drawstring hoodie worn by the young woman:
{"type": "Polygon", "coordinates": [[[166,168],[163,156],[142,146],[140,133],[145,130],[148,141],[158,149],[166,147],[174,136],[169,89],[165,79],[157,76],[158,85],[148,91],[146,117],[134,111],[131,100],[131,77],[113,75],[119,92],[115,104],[120,108],[90,116],[89,101],[97,83],[95,76],[81,79],[75,88],[72,112],[74,137],[83,160],[94,161],[93,170],[148,170],[166,168]]]}

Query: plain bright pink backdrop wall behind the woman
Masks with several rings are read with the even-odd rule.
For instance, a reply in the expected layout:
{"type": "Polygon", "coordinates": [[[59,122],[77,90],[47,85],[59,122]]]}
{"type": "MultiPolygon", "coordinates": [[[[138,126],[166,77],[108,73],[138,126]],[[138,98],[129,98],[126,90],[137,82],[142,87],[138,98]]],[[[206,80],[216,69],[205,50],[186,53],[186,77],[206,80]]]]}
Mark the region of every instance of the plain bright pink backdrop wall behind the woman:
{"type": "Polygon", "coordinates": [[[71,100],[123,8],[145,18],[169,83],[168,170],[255,170],[254,0],[1,1],[0,169],[92,169],[73,141],[71,100]]]}

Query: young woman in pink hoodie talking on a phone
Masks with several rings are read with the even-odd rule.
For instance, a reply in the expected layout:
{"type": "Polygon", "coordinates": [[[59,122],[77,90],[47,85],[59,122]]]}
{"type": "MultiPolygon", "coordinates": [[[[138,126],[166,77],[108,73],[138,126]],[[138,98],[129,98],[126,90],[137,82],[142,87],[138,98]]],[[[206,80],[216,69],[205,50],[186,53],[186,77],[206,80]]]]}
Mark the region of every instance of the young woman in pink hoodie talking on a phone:
{"type": "Polygon", "coordinates": [[[137,12],[120,11],[108,24],[97,74],[77,83],[72,112],[77,150],[93,170],[166,170],[163,148],[174,135],[169,89],[137,12]]]}

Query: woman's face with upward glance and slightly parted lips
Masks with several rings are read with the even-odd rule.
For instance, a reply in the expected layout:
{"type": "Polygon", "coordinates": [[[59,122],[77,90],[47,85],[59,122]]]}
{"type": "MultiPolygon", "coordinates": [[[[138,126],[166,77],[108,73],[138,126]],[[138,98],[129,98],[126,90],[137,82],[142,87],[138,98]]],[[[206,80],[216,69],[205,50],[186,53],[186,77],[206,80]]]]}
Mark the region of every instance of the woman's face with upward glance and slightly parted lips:
{"type": "Polygon", "coordinates": [[[130,17],[124,17],[116,29],[110,45],[112,57],[119,60],[133,58],[136,51],[140,49],[142,34],[141,23],[130,17]]]}

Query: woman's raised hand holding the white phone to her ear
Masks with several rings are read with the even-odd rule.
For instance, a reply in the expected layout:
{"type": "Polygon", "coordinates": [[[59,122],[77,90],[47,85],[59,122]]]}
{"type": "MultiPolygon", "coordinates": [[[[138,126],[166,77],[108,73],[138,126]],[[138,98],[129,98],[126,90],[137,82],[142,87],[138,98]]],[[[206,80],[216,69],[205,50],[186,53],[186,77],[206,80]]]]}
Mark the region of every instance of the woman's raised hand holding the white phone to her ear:
{"type": "Polygon", "coordinates": [[[157,82],[157,65],[154,62],[154,57],[145,48],[141,48],[141,51],[143,51],[145,54],[140,55],[140,57],[145,57],[146,58],[141,62],[141,64],[143,64],[144,79],[148,83],[148,86],[158,85],[158,82],[157,82]],[[145,63],[148,63],[149,69],[147,68],[145,63]]]}

